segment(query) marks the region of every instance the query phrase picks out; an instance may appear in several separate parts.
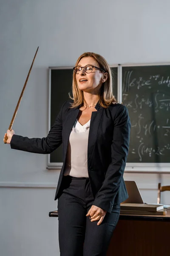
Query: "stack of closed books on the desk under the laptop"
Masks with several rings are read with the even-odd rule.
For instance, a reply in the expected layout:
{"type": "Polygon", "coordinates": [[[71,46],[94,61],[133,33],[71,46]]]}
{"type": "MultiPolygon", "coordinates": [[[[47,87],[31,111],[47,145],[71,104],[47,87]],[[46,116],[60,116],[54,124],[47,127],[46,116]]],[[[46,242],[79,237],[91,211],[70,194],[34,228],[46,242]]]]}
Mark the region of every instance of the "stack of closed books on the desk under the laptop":
{"type": "Polygon", "coordinates": [[[157,204],[120,204],[120,214],[166,215],[167,209],[157,204]]]}

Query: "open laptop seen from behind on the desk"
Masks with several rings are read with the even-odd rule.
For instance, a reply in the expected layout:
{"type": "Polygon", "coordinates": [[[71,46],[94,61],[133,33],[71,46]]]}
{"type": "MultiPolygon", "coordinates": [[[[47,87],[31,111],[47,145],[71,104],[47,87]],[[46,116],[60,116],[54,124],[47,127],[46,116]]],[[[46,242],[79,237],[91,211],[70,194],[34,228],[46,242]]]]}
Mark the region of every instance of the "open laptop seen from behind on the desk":
{"type": "Polygon", "coordinates": [[[144,204],[144,201],[139,192],[136,182],[131,180],[125,180],[125,185],[126,185],[126,189],[129,197],[124,202],[122,202],[122,204],[124,203],[144,204]]]}

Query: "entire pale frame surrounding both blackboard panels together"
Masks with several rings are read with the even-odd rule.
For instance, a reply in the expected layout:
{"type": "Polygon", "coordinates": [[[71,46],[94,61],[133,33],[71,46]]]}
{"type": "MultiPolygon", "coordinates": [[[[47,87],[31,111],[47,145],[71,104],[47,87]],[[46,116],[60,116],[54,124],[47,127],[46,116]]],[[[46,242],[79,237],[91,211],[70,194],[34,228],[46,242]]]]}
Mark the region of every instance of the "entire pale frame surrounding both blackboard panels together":
{"type": "MultiPolygon", "coordinates": [[[[161,66],[170,63],[142,63],[142,64],[114,64],[110,67],[117,67],[117,100],[122,103],[122,68],[140,66],[161,66]]],[[[72,69],[72,67],[49,67],[49,96],[48,96],[48,130],[51,128],[51,70],[72,69]]],[[[51,163],[50,154],[48,155],[47,169],[61,169],[63,163],[51,163]]],[[[126,163],[125,172],[129,173],[170,173],[170,163],[126,163]]]]}

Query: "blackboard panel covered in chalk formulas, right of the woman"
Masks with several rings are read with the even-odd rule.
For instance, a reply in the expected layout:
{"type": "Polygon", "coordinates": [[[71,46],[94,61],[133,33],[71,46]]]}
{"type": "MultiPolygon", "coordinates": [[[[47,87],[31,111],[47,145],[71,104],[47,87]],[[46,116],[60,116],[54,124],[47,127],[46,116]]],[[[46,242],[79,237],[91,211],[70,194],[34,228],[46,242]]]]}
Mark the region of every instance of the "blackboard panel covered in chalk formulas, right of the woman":
{"type": "Polygon", "coordinates": [[[122,67],[131,120],[128,163],[170,163],[170,65],[122,67]]]}

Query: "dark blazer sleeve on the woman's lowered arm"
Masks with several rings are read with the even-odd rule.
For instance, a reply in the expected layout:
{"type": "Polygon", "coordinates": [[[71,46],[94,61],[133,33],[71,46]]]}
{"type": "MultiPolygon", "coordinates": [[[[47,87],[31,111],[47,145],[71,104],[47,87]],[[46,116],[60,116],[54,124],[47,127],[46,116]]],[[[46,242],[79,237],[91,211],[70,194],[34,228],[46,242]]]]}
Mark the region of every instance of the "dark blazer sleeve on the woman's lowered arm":
{"type": "Polygon", "coordinates": [[[130,140],[130,118],[127,108],[121,105],[114,119],[113,140],[111,145],[111,163],[105,174],[105,180],[94,199],[96,205],[108,212],[113,208],[114,199],[122,182],[130,140]]]}

